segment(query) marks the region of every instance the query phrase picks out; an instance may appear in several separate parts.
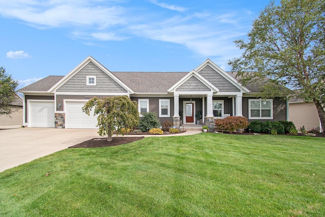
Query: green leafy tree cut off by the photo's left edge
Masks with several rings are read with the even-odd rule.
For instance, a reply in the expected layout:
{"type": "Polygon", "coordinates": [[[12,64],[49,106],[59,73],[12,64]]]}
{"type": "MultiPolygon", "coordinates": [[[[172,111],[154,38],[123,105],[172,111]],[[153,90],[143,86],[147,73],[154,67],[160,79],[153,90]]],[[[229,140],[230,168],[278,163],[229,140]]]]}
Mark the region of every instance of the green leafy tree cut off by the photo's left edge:
{"type": "Polygon", "coordinates": [[[10,115],[13,112],[12,105],[15,100],[18,82],[6,73],[4,67],[0,67],[0,115],[10,115]]]}

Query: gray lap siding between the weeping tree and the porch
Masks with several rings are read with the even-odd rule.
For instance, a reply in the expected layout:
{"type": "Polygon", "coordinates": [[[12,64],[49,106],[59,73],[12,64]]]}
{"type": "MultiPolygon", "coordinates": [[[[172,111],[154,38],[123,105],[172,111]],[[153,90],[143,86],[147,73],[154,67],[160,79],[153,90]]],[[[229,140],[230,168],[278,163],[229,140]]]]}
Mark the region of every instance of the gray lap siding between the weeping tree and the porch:
{"type": "Polygon", "coordinates": [[[163,124],[165,121],[173,121],[174,115],[174,98],[173,97],[131,97],[132,101],[139,103],[139,99],[149,99],[149,112],[156,113],[157,118],[160,121],[160,124],[163,124]],[[170,100],[170,117],[159,117],[159,100],[169,99],[170,100]]]}

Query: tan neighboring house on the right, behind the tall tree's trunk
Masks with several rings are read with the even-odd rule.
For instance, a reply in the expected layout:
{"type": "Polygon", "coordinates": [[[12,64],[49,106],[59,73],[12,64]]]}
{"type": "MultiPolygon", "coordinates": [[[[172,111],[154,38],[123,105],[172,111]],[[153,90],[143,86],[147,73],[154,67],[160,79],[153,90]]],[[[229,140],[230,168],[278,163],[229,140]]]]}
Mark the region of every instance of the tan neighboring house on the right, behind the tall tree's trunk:
{"type": "Polygon", "coordinates": [[[322,129],[315,103],[306,103],[302,99],[289,100],[289,121],[293,121],[298,130],[303,126],[307,131],[322,129]]]}

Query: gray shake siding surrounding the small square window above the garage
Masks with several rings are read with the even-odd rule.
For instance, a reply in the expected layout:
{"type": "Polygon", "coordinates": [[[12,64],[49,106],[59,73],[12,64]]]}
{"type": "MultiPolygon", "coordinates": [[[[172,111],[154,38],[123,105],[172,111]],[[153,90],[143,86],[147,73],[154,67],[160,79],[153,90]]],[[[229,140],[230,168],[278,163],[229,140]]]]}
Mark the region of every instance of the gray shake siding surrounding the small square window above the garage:
{"type": "Polygon", "coordinates": [[[60,86],[56,92],[127,92],[92,62],[60,86]],[[96,76],[96,85],[87,86],[86,76],[96,76]]]}

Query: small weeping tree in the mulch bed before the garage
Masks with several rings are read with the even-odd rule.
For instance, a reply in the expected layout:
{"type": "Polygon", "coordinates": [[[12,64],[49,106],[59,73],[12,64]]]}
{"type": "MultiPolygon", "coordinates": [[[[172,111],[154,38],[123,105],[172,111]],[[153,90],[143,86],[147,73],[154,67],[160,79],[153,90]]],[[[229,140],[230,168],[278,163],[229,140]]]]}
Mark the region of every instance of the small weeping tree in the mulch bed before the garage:
{"type": "Polygon", "coordinates": [[[127,96],[94,97],[82,107],[82,111],[90,115],[92,108],[94,116],[98,115],[98,134],[107,135],[107,141],[112,141],[114,131],[124,135],[123,128],[134,128],[139,125],[138,104],[127,96]]]}

